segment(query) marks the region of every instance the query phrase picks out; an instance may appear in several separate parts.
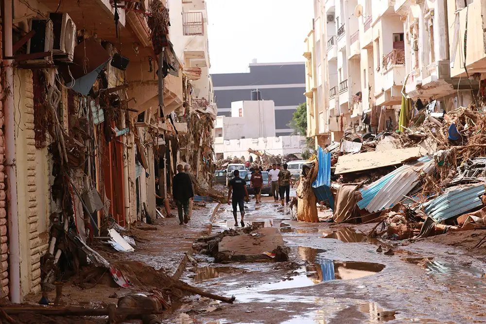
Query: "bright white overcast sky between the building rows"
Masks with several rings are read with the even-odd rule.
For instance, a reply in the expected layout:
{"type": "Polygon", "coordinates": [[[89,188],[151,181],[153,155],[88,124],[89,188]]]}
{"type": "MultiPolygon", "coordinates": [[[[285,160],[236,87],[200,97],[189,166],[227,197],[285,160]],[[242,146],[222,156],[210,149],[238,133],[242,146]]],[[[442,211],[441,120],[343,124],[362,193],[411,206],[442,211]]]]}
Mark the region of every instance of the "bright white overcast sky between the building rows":
{"type": "Polygon", "coordinates": [[[312,0],[206,0],[210,73],[247,72],[258,63],[304,61],[312,0]]]}

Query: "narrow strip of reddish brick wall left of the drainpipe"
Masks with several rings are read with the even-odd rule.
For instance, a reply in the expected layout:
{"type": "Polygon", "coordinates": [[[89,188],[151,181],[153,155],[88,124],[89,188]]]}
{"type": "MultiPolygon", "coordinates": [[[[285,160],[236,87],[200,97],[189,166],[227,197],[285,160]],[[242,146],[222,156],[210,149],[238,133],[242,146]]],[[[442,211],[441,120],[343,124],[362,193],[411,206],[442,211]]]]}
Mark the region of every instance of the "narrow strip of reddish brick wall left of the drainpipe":
{"type": "MultiPolygon", "coordinates": [[[[2,39],[0,26],[0,40],[2,39]]],[[[2,42],[0,41],[0,52],[2,51],[2,42]]],[[[0,58],[1,60],[1,58],[0,58]]],[[[0,64],[0,85],[2,84],[3,69],[0,64]]],[[[0,86],[0,95],[3,88],[0,86]]],[[[3,96],[1,96],[3,97],[3,96]]],[[[7,211],[6,192],[5,192],[5,141],[3,136],[3,102],[0,101],[0,287],[2,296],[9,294],[8,282],[8,245],[7,245],[7,211]]]]}

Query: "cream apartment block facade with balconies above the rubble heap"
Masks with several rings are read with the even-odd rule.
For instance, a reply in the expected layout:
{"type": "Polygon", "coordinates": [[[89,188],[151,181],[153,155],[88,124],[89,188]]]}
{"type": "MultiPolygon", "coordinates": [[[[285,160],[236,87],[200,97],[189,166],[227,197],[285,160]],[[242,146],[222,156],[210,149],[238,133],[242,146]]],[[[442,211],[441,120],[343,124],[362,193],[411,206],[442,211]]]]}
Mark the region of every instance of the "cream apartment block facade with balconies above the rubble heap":
{"type": "Polygon", "coordinates": [[[483,0],[314,1],[305,39],[308,136],[399,127],[402,98],[448,112],[475,102],[485,78],[483,0]]]}

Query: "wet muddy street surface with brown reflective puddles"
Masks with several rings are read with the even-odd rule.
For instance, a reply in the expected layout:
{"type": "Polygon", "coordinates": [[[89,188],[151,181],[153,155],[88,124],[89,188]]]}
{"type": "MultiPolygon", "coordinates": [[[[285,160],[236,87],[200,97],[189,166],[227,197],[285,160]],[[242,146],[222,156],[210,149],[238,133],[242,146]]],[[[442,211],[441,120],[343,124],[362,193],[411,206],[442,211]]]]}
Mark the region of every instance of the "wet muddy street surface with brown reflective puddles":
{"type": "MultiPolygon", "coordinates": [[[[164,323],[486,322],[481,259],[435,242],[367,239],[374,224],[295,222],[288,206],[263,200],[246,205],[245,222],[278,228],[289,261],[214,263],[196,254],[183,280],[236,301],[191,297],[164,323]]],[[[212,233],[233,224],[221,205],[212,233]]]]}

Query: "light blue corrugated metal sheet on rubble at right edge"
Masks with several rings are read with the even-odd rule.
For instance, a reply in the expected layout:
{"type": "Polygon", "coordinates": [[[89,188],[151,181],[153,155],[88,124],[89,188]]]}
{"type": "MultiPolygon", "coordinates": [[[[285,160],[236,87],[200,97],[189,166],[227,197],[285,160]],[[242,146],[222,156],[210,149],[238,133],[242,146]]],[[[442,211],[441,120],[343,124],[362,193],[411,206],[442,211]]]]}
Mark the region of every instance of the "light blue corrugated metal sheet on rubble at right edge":
{"type": "Polygon", "coordinates": [[[485,193],[485,185],[457,188],[440,195],[422,205],[424,213],[436,222],[442,222],[469,210],[482,206],[480,196],[485,193]]]}

